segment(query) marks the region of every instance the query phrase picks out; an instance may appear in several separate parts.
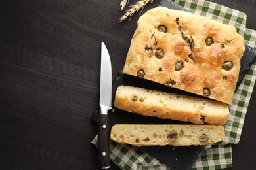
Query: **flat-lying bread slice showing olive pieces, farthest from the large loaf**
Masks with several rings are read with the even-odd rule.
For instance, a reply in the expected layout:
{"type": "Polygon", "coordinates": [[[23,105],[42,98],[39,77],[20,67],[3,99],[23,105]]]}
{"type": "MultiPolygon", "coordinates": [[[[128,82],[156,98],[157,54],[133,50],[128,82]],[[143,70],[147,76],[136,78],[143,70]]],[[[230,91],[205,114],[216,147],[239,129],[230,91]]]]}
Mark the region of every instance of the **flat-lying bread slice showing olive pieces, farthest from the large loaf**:
{"type": "Polygon", "coordinates": [[[116,124],[110,138],[133,146],[189,146],[214,144],[223,140],[220,125],[116,124]]]}

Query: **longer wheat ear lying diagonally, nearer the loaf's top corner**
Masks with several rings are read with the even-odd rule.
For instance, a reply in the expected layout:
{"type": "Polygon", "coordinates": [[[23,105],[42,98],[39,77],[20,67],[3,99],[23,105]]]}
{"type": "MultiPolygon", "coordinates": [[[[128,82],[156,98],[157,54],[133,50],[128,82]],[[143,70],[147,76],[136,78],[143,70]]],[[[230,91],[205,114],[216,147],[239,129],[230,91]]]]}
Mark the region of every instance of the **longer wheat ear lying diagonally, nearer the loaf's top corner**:
{"type": "MultiPolygon", "coordinates": [[[[131,5],[131,9],[125,11],[125,14],[119,19],[120,20],[119,22],[125,20],[128,16],[132,17],[133,14],[135,12],[138,12],[140,9],[142,11],[144,9],[145,5],[147,5],[148,3],[152,3],[153,1],[154,0],[140,0],[140,1],[137,1],[136,3],[131,5]]],[[[131,19],[131,17],[130,17],[130,19],[131,19]]]]}

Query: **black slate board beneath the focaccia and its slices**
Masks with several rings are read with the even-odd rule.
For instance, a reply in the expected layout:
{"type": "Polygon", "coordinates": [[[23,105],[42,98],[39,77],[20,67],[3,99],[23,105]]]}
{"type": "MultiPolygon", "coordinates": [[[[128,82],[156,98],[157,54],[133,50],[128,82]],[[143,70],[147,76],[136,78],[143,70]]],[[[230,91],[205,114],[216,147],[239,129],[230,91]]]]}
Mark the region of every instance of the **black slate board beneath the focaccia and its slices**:
{"type": "MultiPolygon", "coordinates": [[[[162,0],[160,2],[160,6],[168,7],[169,9],[187,11],[186,9],[177,5],[171,0],[162,0]]],[[[244,79],[244,76],[246,75],[249,67],[251,67],[251,64],[255,58],[255,50],[250,46],[245,45],[245,52],[243,58],[241,59],[241,69],[237,87],[244,79]]],[[[131,114],[129,112],[117,109],[116,107],[114,107],[114,95],[119,85],[137,86],[152,90],[161,90],[165,92],[194,95],[175,88],[169,88],[169,86],[165,86],[163,84],[158,84],[156,82],[152,82],[149,80],[137,78],[135,76],[123,75],[122,69],[120,69],[119,74],[113,81],[113,109],[110,110],[108,114],[110,118],[110,126],[114,126],[114,124],[190,124],[188,122],[179,122],[176,120],[163,120],[156,117],[131,114]]],[[[198,95],[194,96],[201,97],[198,95]]],[[[98,110],[99,107],[97,106],[96,111],[91,116],[91,120],[95,124],[97,124],[98,122],[98,110]]],[[[192,163],[196,160],[196,158],[198,158],[198,155],[202,151],[203,146],[142,146],[139,149],[142,150],[142,152],[150,154],[151,156],[159,160],[161,163],[165,163],[166,165],[173,169],[191,169],[192,163]]]]}

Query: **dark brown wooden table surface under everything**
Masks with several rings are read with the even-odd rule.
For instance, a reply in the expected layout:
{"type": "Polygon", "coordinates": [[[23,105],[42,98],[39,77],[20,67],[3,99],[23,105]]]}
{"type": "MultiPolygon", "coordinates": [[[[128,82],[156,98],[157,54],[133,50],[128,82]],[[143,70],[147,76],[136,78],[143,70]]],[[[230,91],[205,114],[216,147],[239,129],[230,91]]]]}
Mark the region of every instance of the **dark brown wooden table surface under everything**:
{"type": "MultiPolygon", "coordinates": [[[[120,1],[0,2],[0,169],[100,169],[90,120],[99,99],[100,43],[114,78],[139,18],[118,23],[120,1]]],[[[254,0],[214,2],[247,13],[247,27],[256,29],[254,0]]],[[[232,169],[255,167],[255,93],[241,141],[232,146],[232,169]]]]}

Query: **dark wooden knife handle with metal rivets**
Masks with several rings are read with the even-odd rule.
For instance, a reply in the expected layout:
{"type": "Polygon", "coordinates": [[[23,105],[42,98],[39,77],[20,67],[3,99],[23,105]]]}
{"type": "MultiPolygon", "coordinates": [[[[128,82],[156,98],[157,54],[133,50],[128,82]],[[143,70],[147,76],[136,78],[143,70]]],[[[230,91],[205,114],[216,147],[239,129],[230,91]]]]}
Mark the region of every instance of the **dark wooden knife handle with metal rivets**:
{"type": "Polygon", "coordinates": [[[108,115],[100,114],[98,119],[98,160],[102,169],[110,168],[110,124],[108,115]]]}

